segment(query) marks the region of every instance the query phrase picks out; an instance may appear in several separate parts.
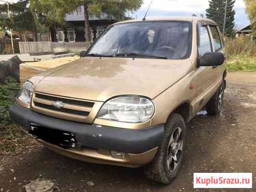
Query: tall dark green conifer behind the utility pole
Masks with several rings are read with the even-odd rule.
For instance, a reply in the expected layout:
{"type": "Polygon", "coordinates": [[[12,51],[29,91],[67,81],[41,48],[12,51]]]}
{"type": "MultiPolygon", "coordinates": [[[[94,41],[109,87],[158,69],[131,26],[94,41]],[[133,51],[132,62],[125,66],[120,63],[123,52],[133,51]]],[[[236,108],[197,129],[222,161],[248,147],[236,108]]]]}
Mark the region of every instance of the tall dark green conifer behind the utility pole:
{"type": "MultiPolygon", "coordinates": [[[[234,37],[235,27],[235,11],[234,11],[235,0],[228,0],[227,17],[225,34],[228,37],[234,37]]],[[[206,16],[208,19],[212,19],[218,25],[220,30],[223,30],[224,23],[224,12],[225,12],[225,0],[209,0],[209,8],[206,10],[206,16]]]]}

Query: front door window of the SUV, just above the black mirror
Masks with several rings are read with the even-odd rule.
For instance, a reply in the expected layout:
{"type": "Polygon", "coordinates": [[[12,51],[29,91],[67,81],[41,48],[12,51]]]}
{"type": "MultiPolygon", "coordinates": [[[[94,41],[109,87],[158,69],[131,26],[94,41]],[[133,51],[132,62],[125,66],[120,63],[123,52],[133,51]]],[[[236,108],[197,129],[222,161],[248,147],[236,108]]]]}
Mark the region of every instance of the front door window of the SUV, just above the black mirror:
{"type": "Polygon", "coordinates": [[[205,53],[212,52],[212,46],[207,26],[200,27],[200,37],[198,42],[198,53],[202,57],[205,53]]]}

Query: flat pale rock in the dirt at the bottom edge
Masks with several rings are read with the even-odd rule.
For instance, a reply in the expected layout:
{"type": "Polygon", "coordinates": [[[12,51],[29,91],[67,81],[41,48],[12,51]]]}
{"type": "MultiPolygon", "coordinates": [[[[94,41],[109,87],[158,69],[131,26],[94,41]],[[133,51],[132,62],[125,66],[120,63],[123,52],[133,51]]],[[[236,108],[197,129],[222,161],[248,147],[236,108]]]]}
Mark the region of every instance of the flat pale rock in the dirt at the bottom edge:
{"type": "Polygon", "coordinates": [[[50,180],[34,180],[25,186],[26,192],[53,192],[55,184],[50,180]]]}

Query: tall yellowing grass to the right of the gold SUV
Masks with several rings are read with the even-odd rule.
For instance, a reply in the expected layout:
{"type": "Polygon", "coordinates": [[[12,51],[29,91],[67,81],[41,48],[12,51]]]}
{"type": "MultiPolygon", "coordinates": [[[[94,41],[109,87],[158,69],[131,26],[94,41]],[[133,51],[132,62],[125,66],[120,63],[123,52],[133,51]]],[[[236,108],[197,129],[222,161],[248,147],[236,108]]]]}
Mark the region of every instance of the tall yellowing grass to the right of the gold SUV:
{"type": "Polygon", "coordinates": [[[249,37],[226,38],[229,71],[256,71],[256,43],[249,37]]]}

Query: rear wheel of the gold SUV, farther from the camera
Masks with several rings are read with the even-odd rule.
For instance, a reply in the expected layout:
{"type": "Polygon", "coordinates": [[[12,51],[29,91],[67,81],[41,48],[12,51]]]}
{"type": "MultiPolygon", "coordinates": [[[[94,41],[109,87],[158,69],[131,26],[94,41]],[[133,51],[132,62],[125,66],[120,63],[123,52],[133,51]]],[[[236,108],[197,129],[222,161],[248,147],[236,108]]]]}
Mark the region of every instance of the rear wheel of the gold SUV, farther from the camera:
{"type": "Polygon", "coordinates": [[[219,89],[213,95],[213,97],[206,104],[206,111],[208,115],[218,115],[224,101],[224,82],[222,81],[219,89]]]}

